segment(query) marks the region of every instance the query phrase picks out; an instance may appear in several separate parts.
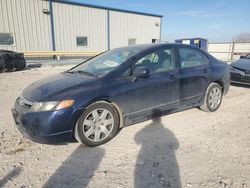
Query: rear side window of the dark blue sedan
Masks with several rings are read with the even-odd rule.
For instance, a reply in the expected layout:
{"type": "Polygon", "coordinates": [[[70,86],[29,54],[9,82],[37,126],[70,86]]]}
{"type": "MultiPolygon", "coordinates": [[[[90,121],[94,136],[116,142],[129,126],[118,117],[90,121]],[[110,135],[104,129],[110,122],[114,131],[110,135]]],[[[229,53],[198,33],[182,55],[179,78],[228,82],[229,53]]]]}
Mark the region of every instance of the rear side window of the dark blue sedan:
{"type": "Polygon", "coordinates": [[[208,64],[209,60],[202,52],[191,48],[180,48],[181,68],[208,64]]]}

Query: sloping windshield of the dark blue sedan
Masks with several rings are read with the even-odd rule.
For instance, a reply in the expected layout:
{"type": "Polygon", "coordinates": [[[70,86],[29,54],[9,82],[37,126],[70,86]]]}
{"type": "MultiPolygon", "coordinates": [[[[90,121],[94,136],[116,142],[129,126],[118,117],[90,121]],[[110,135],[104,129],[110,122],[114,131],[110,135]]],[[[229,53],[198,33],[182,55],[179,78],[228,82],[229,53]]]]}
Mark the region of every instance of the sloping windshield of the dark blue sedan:
{"type": "Polygon", "coordinates": [[[69,72],[83,73],[90,76],[103,76],[138,53],[141,48],[139,46],[116,48],[84,62],[69,72]]]}

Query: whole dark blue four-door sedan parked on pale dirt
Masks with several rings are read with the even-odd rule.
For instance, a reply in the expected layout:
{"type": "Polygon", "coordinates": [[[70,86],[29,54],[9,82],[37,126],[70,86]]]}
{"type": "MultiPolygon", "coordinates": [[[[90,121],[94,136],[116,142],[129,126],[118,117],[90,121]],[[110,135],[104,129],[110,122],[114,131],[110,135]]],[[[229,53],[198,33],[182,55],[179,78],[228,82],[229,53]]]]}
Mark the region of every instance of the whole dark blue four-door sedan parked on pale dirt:
{"type": "Polygon", "coordinates": [[[230,86],[229,66],[183,44],[113,49],[37,81],[12,109],[19,130],[41,143],[97,146],[122,127],[200,107],[216,111],[230,86]]]}

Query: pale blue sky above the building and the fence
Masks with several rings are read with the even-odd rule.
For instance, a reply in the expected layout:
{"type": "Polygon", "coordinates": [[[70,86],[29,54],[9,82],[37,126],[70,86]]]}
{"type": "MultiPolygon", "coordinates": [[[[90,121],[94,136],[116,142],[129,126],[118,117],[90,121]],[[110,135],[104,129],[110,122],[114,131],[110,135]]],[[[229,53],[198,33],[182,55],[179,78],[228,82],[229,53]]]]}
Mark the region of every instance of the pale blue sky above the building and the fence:
{"type": "Polygon", "coordinates": [[[163,15],[162,40],[203,37],[232,41],[250,33],[250,0],[71,0],[163,15]]]}

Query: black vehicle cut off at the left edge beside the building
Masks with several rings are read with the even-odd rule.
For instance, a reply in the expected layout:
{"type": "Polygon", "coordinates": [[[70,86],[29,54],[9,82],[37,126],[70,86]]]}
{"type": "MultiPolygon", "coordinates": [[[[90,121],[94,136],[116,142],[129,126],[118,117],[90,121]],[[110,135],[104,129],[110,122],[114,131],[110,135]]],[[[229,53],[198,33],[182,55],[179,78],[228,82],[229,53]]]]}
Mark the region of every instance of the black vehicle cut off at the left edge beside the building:
{"type": "Polygon", "coordinates": [[[23,53],[18,53],[9,50],[0,50],[0,70],[22,70],[25,67],[26,61],[24,59],[23,53]]]}

